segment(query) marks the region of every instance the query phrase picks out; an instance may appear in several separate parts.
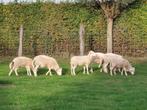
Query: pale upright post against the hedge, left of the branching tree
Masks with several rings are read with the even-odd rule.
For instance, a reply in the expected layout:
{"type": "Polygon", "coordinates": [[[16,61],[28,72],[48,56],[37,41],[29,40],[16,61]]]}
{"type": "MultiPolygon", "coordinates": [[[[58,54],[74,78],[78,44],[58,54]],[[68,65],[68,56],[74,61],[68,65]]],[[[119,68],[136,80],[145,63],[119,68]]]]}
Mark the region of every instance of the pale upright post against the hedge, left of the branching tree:
{"type": "Polygon", "coordinates": [[[79,40],[80,40],[80,55],[84,55],[84,25],[80,24],[80,30],[79,30],[79,40]]]}

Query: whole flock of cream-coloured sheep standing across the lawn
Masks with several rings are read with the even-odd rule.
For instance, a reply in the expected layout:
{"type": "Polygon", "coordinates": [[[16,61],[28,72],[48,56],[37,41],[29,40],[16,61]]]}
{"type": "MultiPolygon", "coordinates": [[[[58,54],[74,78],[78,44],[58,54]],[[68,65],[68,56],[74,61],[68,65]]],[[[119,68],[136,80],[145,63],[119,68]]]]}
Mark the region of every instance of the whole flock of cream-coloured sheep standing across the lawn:
{"type": "MultiPolygon", "coordinates": [[[[116,75],[116,72],[121,72],[121,75],[125,73],[127,76],[127,73],[131,73],[134,75],[135,68],[132,67],[132,65],[129,63],[127,59],[125,59],[123,56],[114,54],[114,53],[100,53],[100,52],[94,52],[90,51],[88,55],[85,56],[73,56],[70,59],[70,65],[71,65],[71,75],[76,75],[75,69],[77,66],[83,66],[83,74],[86,73],[89,74],[89,67],[92,63],[99,64],[100,72],[108,73],[110,72],[110,75],[113,74],[116,75]]],[[[52,76],[51,70],[56,71],[57,75],[62,75],[62,68],[59,67],[57,61],[53,57],[49,57],[46,55],[38,55],[34,57],[34,59],[28,58],[28,57],[16,57],[12,60],[12,62],[9,64],[10,72],[9,76],[14,71],[16,76],[18,76],[18,68],[25,67],[27,70],[27,75],[31,76],[31,70],[34,73],[34,76],[37,76],[37,70],[38,68],[48,68],[48,71],[46,75],[52,76]]],[[[91,68],[91,72],[93,72],[91,68]]]]}

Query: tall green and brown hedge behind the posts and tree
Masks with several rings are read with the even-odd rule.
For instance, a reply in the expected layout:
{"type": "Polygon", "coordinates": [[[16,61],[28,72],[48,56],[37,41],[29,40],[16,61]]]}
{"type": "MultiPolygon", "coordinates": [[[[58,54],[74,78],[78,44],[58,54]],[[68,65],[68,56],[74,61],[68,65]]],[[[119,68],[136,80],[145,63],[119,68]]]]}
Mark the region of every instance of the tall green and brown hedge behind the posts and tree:
{"type": "MultiPolygon", "coordinates": [[[[0,5],[0,55],[16,56],[23,24],[24,55],[79,53],[79,26],[86,29],[85,48],[106,52],[106,21],[101,10],[84,4],[33,3],[0,5]]],[[[114,52],[147,56],[146,1],[138,0],[115,20],[114,52]]]]}

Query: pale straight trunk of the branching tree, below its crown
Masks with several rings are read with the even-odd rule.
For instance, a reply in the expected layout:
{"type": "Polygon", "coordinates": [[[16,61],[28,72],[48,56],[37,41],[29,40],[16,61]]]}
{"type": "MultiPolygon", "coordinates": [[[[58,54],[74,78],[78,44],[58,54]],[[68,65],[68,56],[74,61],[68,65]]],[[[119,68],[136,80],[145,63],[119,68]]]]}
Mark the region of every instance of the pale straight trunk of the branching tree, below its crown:
{"type": "Polygon", "coordinates": [[[113,19],[107,18],[107,53],[112,53],[113,19]]]}

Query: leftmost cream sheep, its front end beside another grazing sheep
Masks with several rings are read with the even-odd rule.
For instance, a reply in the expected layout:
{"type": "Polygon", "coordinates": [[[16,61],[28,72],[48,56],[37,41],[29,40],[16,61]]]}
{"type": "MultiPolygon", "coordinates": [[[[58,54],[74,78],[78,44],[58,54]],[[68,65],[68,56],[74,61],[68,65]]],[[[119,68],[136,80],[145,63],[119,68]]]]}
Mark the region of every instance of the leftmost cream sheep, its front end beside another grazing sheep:
{"type": "Polygon", "coordinates": [[[32,66],[32,59],[28,58],[28,57],[16,57],[12,60],[12,62],[9,64],[9,68],[10,68],[10,72],[9,72],[9,76],[11,76],[12,72],[14,71],[16,76],[18,76],[18,68],[20,67],[25,67],[27,70],[27,75],[31,76],[31,69],[33,71],[33,66],[32,66]]]}

